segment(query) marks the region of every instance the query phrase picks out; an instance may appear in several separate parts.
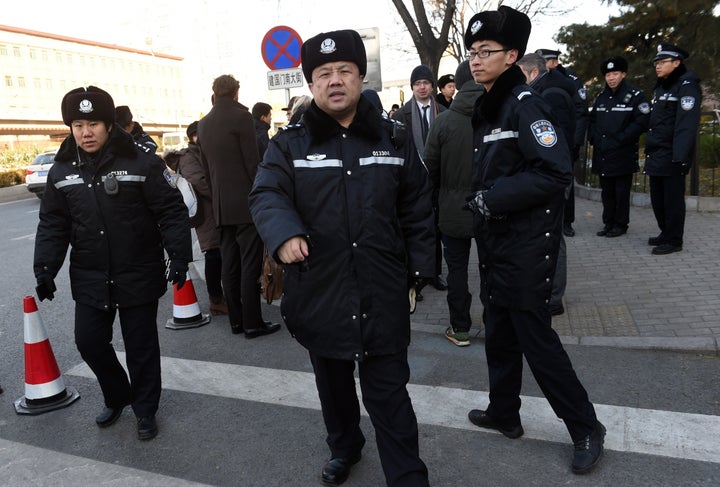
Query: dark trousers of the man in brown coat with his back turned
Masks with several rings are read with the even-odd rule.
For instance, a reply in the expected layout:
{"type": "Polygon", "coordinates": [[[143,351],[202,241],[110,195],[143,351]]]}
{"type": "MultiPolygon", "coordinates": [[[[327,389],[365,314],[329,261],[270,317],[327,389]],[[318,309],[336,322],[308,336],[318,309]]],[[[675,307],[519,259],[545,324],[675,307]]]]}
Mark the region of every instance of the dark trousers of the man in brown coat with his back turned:
{"type": "Polygon", "coordinates": [[[263,243],[255,225],[222,227],[222,285],[233,328],[257,328],[262,323],[258,279],[262,269],[263,243]]]}

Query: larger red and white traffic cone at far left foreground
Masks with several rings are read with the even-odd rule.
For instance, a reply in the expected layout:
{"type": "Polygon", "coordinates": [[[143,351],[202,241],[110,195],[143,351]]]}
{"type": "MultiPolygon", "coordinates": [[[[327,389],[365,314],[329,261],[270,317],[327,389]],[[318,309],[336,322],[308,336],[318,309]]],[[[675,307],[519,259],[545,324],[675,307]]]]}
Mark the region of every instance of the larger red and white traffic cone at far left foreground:
{"type": "Polygon", "coordinates": [[[25,395],[15,401],[17,414],[41,414],[69,406],[80,394],[66,387],[35,298],[25,296],[25,395]]]}

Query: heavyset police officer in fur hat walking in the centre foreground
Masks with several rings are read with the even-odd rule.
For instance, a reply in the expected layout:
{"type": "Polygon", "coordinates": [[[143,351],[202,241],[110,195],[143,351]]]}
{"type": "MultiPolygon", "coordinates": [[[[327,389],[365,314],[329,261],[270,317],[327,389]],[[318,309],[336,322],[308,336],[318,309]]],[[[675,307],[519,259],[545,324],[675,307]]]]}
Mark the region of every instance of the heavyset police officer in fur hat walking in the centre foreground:
{"type": "Polygon", "coordinates": [[[270,141],[250,209],[285,264],[283,319],[310,352],[331,455],[322,481],[343,483],[361,458],[358,362],[387,484],[428,485],[406,388],[407,276],[434,272],[427,171],[403,126],[361,95],[357,32],[312,37],[301,58],[313,101],[270,141]]]}

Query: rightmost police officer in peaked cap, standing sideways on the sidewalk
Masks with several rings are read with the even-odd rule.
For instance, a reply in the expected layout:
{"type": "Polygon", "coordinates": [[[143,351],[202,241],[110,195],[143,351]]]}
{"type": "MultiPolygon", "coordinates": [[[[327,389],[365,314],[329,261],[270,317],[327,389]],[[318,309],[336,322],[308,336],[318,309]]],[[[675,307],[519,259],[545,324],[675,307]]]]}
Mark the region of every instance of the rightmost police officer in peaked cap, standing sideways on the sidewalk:
{"type": "Polygon", "coordinates": [[[657,84],[645,144],[644,173],[650,176],[650,203],[660,235],[650,237],[653,255],[682,250],[685,229],[685,175],[695,154],[702,91],[700,79],[683,61],[688,52],[658,46],[653,59],[657,84]]]}

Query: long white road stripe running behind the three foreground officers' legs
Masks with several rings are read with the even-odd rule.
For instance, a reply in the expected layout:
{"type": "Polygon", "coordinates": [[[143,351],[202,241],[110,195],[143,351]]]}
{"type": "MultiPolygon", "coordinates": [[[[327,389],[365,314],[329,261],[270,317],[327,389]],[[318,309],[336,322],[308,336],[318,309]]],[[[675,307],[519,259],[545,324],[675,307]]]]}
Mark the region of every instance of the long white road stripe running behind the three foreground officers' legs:
{"type": "MultiPolygon", "coordinates": [[[[124,354],[118,356],[124,362],[124,354]]],[[[162,370],[165,389],[320,409],[315,380],[308,372],[171,357],[162,358],[162,370]]],[[[95,377],[84,363],[67,374],[95,377]]],[[[408,385],[408,390],[420,424],[500,434],[481,430],[467,419],[470,409],[487,405],[487,392],[418,384],[408,385]]],[[[595,409],[607,427],[609,450],[720,463],[720,416],[607,404],[596,404],[595,409]]],[[[544,398],[522,396],[521,415],[525,438],[570,442],[564,423],[544,398]]]]}

